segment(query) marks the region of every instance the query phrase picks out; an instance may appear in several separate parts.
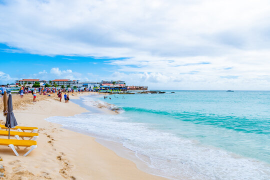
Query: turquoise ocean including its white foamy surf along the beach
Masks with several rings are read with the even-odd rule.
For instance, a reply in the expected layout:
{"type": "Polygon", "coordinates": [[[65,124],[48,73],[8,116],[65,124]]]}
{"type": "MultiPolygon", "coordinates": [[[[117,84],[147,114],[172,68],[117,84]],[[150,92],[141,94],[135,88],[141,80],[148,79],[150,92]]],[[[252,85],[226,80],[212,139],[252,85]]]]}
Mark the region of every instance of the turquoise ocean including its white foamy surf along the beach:
{"type": "Polygon", "coordinates": [[[90,112],[47,120],[119,142],[170,179],[270,179],[270,91],[171,92],[83,96],[90,112]]]}

